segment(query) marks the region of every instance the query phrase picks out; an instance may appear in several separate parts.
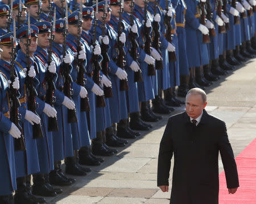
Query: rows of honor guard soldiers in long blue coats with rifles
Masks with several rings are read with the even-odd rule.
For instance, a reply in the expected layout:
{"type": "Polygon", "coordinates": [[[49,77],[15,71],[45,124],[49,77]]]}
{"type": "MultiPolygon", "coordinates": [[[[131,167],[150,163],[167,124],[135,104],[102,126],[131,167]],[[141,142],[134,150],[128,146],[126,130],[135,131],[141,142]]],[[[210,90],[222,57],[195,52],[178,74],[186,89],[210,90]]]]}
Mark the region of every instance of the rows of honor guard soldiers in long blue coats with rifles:
{"type": "Polygon", "coordinates": [[[76,182],[66,174],[85,176],[183,105],[177,96],[255,57],[255,6],[2,0],[0,203],[60,194],[76,182]]]}

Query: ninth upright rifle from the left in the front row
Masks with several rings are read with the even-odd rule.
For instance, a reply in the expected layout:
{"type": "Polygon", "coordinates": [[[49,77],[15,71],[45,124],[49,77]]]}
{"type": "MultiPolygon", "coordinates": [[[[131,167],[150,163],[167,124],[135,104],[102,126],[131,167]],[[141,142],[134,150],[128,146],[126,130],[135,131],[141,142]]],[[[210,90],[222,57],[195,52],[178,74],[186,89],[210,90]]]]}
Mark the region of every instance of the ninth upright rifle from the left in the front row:
{"type": "MultiPolygon", "coordinates": [[[[134,15],[133,15],[133,9],[134,9],[134,0],[131,1],[130,8],[131,8],[131,14],[130,14],[130,26],[133,27],[134,23],[134,15]]],[[[139,65],[138,63],[138,56],[137,56],[137,48],[139,47],[138,42],[136,40],[136,34],[134,34],[130,30],[130,40],[131,40],[131,49],[130,49],[130,55],[133,57],[133,60],[139,65]]],[[[139,69],[138,72],[134,72],[134,82],[142,82],[142,70],[139,69]]]]}

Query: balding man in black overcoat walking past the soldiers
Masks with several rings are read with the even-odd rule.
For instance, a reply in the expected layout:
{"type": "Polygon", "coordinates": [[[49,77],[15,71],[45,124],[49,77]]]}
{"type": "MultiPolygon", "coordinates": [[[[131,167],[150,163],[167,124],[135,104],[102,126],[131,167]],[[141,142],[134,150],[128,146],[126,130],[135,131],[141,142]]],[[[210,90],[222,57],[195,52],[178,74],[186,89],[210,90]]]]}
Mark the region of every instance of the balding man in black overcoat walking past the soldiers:
{"type": "Polygon", "coordinates": [[[168,119],[160,143],[158,186],[168,191],[174,155],[171,204],[218,204],[218,153],[229,193],[239,186],[236,161],[225,122],[204,110],[207,96],[201,89],[188,91],[186,111],[168,119]]]}

